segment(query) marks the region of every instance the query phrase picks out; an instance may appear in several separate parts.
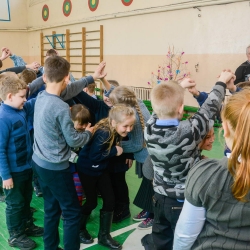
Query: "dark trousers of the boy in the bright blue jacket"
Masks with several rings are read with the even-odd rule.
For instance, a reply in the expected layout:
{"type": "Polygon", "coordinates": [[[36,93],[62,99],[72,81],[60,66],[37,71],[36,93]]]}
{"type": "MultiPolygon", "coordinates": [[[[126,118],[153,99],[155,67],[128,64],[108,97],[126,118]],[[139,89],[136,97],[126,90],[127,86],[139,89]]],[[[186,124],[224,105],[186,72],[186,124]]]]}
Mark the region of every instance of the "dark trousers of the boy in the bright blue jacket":
{"type": "Polygon", "coordinates": [[[6,195],[6,224],[9,233],[20,233],[32,218],[30,202],[32,199],[32,169],[11,173],[14,188],[4,189],[6,195]]]}

